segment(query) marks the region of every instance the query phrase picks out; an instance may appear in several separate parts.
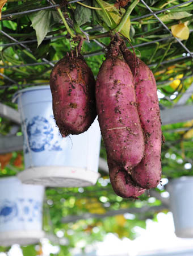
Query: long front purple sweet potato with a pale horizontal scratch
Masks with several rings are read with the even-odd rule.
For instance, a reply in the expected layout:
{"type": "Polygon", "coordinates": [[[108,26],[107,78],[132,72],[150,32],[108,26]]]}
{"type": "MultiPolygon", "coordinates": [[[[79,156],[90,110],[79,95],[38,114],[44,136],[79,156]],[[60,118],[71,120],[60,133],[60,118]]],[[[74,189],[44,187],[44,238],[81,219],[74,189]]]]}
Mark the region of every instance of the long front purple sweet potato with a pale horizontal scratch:
{"type": "Polygon", "coordinates": [[[128,172],[144,156],[133,75],[119,45],[111,44],[96,79],[96,111],[108,158],[128,172]]]}

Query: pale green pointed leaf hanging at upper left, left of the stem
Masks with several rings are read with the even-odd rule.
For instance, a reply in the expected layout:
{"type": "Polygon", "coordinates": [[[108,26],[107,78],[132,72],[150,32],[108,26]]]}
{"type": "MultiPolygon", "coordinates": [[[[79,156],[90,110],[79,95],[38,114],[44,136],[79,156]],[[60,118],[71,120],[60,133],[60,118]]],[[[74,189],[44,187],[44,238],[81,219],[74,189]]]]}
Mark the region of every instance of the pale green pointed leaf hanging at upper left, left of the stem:
{"type": "Polygon", "coordinates": [[[31,26],[36,31],[38,47],[50,31],[51,11],[38,11],[37,13],[30,15],[29,18],[32,22],[31,26]]]}

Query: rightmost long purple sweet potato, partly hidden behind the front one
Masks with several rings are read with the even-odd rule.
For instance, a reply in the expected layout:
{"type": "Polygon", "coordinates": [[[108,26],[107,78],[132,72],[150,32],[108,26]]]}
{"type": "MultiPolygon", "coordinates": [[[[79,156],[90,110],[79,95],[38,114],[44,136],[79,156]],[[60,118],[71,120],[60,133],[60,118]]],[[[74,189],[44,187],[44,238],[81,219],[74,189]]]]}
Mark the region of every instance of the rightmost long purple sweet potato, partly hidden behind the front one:
{"type": "Polygon", "coordinates": [[[137,110],[144,131],[145,154],[141,162],[132,169],[131,176],[142,188],[154,188],[161,180],[161,119],[157,97],[156,80],[152,71],[140,59],[121,45],[124,59],[135,76],[137,110]]]}

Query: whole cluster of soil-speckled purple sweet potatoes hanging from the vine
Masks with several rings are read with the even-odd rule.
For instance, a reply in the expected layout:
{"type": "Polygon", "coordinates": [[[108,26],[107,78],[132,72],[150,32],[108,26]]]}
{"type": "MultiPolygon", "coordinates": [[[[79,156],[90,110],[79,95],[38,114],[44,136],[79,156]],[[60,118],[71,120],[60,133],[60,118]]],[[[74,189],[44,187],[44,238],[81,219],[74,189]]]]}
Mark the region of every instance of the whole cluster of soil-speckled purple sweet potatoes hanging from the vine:
{"type": "Polygon", "coordinates": [[[78,54],[58,61],[50,85],[62,136],[83,133],[98,115],[117,195],[137,198],[158,185],[162,132],[156,81],[123,40],[112,40],[96,84],[78,54]]]}

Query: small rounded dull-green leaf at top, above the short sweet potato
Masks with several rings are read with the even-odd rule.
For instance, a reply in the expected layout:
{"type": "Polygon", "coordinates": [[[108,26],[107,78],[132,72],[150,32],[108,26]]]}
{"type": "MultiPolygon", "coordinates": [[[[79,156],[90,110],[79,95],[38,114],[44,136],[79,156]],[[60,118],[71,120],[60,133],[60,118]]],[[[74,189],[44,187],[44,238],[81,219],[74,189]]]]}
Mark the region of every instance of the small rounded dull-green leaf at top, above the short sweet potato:
{"type": "MultiPolygon", "coordinates": [[[[83,1],[85,5],[90,5],[89,0],[83,1]]],[[[85,24],[86,22],[90,22],[91,9],[84,7],[82,5],[78,5],[74,12],[75,21],[78,23],[78,26],[85,24]]]]}

